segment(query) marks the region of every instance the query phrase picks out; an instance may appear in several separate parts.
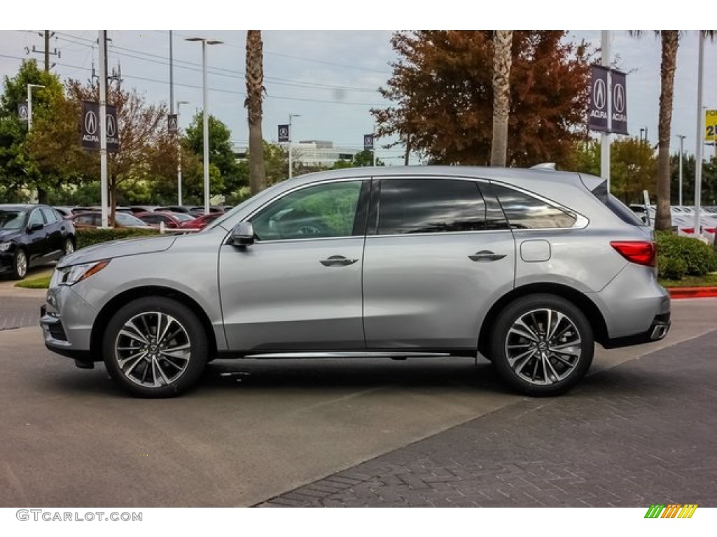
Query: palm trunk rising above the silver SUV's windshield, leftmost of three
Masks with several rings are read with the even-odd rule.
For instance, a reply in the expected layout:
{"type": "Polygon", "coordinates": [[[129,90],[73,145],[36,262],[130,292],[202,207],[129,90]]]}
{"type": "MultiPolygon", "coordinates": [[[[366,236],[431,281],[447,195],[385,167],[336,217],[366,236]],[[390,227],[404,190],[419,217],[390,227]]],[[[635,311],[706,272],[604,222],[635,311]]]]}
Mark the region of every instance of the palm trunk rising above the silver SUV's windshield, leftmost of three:
{"type": "Polygon", "coordinates": [[[247,119],[249,121],[249,183],[252,194],[266,188],[262,99],[264,97],[264,44],[260,30],[247,30],[247,119]]]}

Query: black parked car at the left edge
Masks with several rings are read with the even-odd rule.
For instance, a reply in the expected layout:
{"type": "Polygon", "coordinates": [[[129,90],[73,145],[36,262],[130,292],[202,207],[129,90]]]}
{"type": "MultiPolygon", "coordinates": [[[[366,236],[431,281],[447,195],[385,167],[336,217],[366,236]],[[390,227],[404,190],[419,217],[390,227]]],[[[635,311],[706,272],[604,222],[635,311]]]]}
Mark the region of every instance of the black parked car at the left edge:
{"type": "Polygon", "coordinates": [[[22,280],[27,269],[75,251],[75,227],[47,205],[0,205],[0,274],[22,280]]]}

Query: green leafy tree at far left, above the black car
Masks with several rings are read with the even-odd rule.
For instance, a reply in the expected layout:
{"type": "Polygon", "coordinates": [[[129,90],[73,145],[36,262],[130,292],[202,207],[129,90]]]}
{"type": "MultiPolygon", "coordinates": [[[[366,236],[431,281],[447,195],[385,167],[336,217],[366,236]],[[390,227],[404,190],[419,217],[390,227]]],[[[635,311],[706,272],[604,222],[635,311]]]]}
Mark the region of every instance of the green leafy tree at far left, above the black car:
{"type": "Polygon", "coordinates": [[[40,84],[32,90],[33,130],[42,129],[43,120],[54,116],[62,102],[62,83],[57,75],[44,72],[34,59],[22,62],[17,74],[4,77],[0,96],[0,182],[15,198],[22,188],[37,190],[40,203],[47,201],[47,189],[58,182],[59,170],[40,168],[27,145],[27,122],[20,120],[18,105],[27,101],[27,84],[40,84]]]}

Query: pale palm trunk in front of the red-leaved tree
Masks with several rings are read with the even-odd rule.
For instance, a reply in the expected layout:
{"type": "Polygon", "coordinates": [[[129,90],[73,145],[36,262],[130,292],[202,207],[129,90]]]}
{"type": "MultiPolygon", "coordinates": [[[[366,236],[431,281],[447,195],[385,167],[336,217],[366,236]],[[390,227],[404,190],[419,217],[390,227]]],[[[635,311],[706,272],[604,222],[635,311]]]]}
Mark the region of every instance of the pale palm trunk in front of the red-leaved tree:
{"type": "Polygon", "coordinates": [[[508,159],[508,117],[511,106],[511,45],[513,30],[493,34],[493,144],[490,165],[505,166],[508,159]]]}

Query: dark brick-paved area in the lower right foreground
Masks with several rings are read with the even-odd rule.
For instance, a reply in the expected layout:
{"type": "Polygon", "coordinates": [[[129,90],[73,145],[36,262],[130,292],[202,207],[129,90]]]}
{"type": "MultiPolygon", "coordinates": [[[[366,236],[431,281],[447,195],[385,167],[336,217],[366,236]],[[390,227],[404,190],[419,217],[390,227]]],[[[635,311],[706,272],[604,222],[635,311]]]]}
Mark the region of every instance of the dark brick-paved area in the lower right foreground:
{"type": "Polygon", "coordinates": [[[716,348],[711,332],[261,506],[715,507],[716,348]]]}

